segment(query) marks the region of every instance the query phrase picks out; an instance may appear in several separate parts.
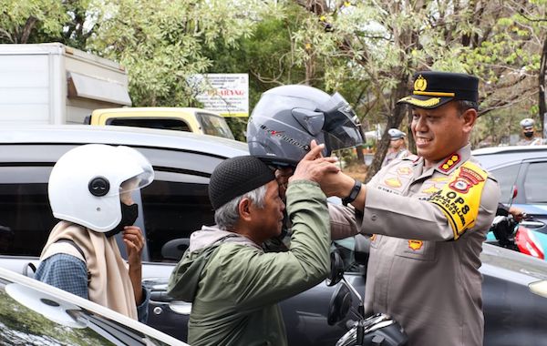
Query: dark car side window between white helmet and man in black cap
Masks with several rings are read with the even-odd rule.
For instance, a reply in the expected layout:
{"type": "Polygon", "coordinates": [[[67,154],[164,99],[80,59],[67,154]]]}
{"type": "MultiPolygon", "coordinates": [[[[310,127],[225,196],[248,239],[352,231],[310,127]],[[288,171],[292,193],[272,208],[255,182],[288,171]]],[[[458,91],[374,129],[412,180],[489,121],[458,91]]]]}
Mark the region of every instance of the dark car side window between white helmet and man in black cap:
{"type": "Polygon", "coordinates": [[[161,254],[166,242],[189,239],[202,225],[214,224],[208,184],[209,178],[157,171],[141,190],[150,260],[166,261],[161,254]]]}

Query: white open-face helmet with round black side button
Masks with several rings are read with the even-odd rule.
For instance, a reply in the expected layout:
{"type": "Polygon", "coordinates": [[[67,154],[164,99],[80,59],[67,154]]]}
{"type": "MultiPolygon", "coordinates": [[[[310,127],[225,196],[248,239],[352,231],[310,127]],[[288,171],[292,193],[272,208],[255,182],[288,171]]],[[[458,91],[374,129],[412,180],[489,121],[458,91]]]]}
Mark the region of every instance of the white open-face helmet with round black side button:
{"type": "Polygon", "coordinates": [[[150,162],[129,147],[88,144],[58,159],[47,193],[53,215],[107,232],[121,220],[119,195],[144,188],[154,179],[150,162]],[[130,184],[122,183],[131,180],[130,184]]]}

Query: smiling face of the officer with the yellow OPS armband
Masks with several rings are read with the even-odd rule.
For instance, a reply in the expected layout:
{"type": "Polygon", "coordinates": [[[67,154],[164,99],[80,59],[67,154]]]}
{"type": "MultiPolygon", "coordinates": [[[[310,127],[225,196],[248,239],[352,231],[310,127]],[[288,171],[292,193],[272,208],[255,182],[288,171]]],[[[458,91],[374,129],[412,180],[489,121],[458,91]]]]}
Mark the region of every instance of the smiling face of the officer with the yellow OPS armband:
{"type": "Polygon", "coordinates": [[[412,109],[412,133],[418,156],[430,166],[465,146],[477,118],[474,109],[459,114],[452,101],[434,109],[412,109]]]}

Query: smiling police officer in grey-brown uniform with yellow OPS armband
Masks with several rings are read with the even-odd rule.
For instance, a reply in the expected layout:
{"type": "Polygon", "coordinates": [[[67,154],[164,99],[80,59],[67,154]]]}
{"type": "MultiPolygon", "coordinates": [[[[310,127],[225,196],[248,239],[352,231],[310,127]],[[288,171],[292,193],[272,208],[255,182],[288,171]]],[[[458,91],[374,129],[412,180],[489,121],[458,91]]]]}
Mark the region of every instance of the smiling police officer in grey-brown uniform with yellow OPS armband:
{"type": "Polygon", "coordinates": [[[482,345],[480,251],[500,188],[470,153],[478,85],[464,74],[415,74],[398,103],[412,107],[418,156],[392,161],[366,187],[347,177],[335,192],[373,234],[366,312],[391,315],[410,345],[482,345]]]}

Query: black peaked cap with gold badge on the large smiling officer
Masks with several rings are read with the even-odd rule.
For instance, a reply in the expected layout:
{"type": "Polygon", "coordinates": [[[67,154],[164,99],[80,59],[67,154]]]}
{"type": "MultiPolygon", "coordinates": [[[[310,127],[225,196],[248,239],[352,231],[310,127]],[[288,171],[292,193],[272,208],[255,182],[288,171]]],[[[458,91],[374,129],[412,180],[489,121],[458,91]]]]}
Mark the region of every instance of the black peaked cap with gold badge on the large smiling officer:
{"type": "Polygon", "coordinates": [[[479,78],[460,73],[420,71],[412,77],[412,95],[398,103],[418,108],[437,108],[451,100],[479,101],[479,78]]]}

